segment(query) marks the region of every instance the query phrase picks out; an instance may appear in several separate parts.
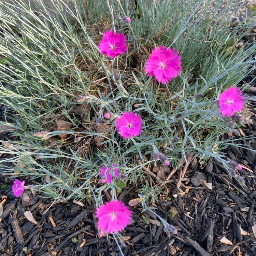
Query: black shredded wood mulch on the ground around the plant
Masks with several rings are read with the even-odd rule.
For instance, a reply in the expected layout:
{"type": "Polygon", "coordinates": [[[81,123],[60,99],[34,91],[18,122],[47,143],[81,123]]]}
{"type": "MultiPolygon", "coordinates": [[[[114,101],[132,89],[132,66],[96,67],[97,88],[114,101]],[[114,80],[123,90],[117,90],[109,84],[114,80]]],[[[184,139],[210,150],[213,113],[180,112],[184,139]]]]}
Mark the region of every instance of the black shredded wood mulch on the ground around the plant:
{"type": "MultiPolygon", "coordinates": [[[[252,81],[255,75],[253,72],[243,82],[252,81]]],[[[255,88],[251,88],[249,94],[253,95],[256,84],[253,82],[251,85],[255,88]]],[[[251,106],[254,107],[255,104],[251,106]]],[[[253,123],[243,132],[255,136],[256,118],[251,118],[253,123]]],[[[5,136],[6,133],[2,133],[1,139],[4,140],[5,136]]],[[[222,139],[227,136],[224,134],[222,139]]],[[[167,193],[161,197],[155,212],[177,227],[177,235],[169,238],[163,231],[163,225],[146,224],[140,205],[134,207],[133,222],[122,233],[128,239],[125,241],[126,247],[120,244],[124,255],[164,256],[173,255],[175,251],[175,255],[183,256],[256,255],[252,232],[252,226],[256,224],[256,155],[247,148],[255,150],[256,140],[244,145],[244,148],[231,145],[226,150],[229,159],[248,168],[241,171],[246,185],[230,180],[223,166],[212,159],[203,168],[199,168],[196,161],[188,168],[185,185],[191,188],[185,195],[173,197],[176,184],[168,184],[167,193]],[[212,189],[198,184],[202,174],[208,183],[212,183],[212,189]],[[174,217],[169,214],[171,208],[176,208],[174,217]],[[220,241],[224,236],[230,245],[220,241]]],[[[177,177],[174,175],[172,179],[177,177]]],[[[2,184],[5,184],[4,177],[2,184]]],[[[84,206],[72,201],[52,205],[45,198],[30,196],[32,199],[22,204],[20,198],[12,195],[10,184],[7,189],[0,189],[0,197],[3,205],[0,217],[1,256],[121,255],[111,236],[108,240],[106,237],[98,238],[95,207],[86,202],[84,206]],[[24,216],[25,211],[32,213],[37,224],[28,221],[24,216]]],[[[136,197],[138,194],[134,186],[130,185],[123,189],[118,199],[128,204],[130,199],[136,197]]],[[[144,215],[157,219],[147,212],[144,215]]]]}

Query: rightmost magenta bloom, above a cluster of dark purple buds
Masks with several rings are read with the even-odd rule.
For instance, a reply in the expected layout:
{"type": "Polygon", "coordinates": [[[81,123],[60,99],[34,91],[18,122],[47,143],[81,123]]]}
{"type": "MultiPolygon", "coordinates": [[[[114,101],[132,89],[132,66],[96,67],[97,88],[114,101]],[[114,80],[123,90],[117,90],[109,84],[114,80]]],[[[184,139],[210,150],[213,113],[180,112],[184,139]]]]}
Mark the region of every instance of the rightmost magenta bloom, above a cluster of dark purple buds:
{"type": "Polygon", "coordinates": [[[243,107],[242,91],[235,86],[224,91],[219,97],[219,112],[223,116],[232,116],[234,112],[242,111],[243,107]]]}

